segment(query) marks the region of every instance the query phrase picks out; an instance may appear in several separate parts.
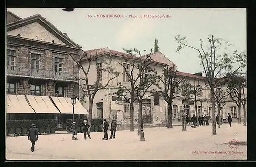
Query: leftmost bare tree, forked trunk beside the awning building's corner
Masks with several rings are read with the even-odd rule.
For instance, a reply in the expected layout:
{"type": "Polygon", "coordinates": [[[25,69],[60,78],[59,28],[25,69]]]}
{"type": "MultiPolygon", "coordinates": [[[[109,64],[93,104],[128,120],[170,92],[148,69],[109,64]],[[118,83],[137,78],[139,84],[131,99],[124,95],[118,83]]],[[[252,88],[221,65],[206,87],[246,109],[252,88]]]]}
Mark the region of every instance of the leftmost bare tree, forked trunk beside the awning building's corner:
{"type": "MultiPolygon", "coordinates": [[[[70,54],[69,54],[70,55],[70,54]]],[[[98,67],[98,54],[96,52],[96,55],[95,56],[92,56],[92,54],[90,54],[89,56],[85,53],[79,60],[76,60],[74,57],[72,57],[72,55],[70,55],[70,57],[76,62],[76,65],[79,67],[79,69],[82,69],[82,72],[84,74],[84,77],[83,78],[77,78],[78,80],[82,80],[84,83],[81,84],[81,88],[82,90],[86,91],[86,95],[88,96],[88,99],[89,99],[89,110],[88,110],[88,113],[89,113],[89,118],[88,118],[88,124],[91,125],[91,122],[92,122],[92,110],[93,110],[93,100],[94,100],[94,97],[96,95],[96,93],[101,90],[101,89],[104,89],[106,88],[109,83],[115,79],[118,75],[119,75],[119,72],[116,72],[115,71],[115,68],[113,67],[110,67],[108,65],[108,62],[105,62],[102,60],[102,63],[106,65],[105,68],[100,68],[98,67]],[[81,62],[83,61],[86,61],[88,62],[88,67],[87,69],[85,69],[82,65],[81,65],[81,62]],[[89,70],[91,68],[91,65],[92,65],[92,62],[95,62],[96,63],[96,71],[97,71],[97,79],[95,81],[95,85],[94,87],[90,87],[89,85],[89,78],[88,78],[88,73],[89,73],[89,70]],[[102,85],[100,83],[100,70],[104,71],[104,72],[107,72],[107,73],[110,73],[110,74],[113,74],[114,76],[109,78],[108,81],[106,82],[105,85],[102,85]],[[85,88],[84,88],[85,87],[85,88]]],[[[90,128],[89,128],[89,132],[90,132],[90,128]]]]}

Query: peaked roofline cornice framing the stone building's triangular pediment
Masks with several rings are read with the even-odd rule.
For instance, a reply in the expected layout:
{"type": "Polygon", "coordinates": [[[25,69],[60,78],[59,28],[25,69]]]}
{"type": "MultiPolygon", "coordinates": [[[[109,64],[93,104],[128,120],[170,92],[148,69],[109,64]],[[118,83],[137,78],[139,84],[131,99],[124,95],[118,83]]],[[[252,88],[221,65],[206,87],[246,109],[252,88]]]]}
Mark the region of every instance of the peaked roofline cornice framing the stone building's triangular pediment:
{"type": "Polygon", "coordinates": [[[79,49],[82,48],[82,46],[78,45],[77,43],[75,43],[72,39],[70,39],[68,36],[66,36],[65,34],[63,34],[59,29],[57,29],[56,26],[54,26],[51,22],[49,22],[47,19],[45,19],[44,17],[42,17],[40,14],[35,14],[32,15],[30,17],[26,17],[22,20],[18,20],[16,22],[10,22],[7,24],[7,31],[8,29],[11,29],[12,27],[15,27],[17,25],[21,25],[24,24],[26,22],[29,21],[33,21],[39,19],[41,22],[45,23],[46,25],[48,25],[54,32],[56,32],[60,37],[62,37],[63,39],[65,39],[67,42],[69,42],[71,45],[78,47],[79,49]]]}

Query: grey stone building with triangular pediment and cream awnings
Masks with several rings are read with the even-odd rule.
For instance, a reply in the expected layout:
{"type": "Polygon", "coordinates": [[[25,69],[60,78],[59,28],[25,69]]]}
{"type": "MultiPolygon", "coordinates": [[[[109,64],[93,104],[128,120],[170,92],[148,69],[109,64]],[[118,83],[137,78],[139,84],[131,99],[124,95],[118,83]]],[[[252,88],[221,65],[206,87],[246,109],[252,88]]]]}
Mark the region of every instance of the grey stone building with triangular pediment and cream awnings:
{"type": "MultiPolygon", "coordinates": [[[[28,111],[41,119],[71,114],[79,69],[70,55],[79,59],[82,47],[39,14],[22,19],[8,11],[6,29],[7,119],[28,111]]],[[[76,105],[76,114],[87,114],[76,105]]]]}

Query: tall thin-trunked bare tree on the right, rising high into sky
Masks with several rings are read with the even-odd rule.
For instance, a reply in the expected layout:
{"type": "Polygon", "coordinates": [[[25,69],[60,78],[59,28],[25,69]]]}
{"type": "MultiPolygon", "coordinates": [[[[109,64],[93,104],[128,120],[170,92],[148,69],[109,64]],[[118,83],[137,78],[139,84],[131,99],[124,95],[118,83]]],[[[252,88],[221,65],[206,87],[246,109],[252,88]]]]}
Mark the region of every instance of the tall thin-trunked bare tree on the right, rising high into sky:
{"type": "MultiPolygon", "coordinates": [[[[206,79],[206,87],[211,91],[211,104],[212,104],[212,135],[216,133],[216,121],[215,121],[215,88],[219,80],[224,77],[230,77],[234,72],[238,71],[243,65],[240,65],[236,70],[233,70],[232,55],[224,52],[219,53],[222,48],[222,38],[215,38],[214,35],[209,35],[207,38],[207,49],[203,46],[203,41],[200,39],[200,48],[193,47],[188,44],[186,37],[181,38],[180,35],[175,36],[175,40],[178,42],[177,52],[184,47],[188,47],[196,50],[199,53],[201,65],[203,66],[206,79]],[[218,52],[219,51],[219,52],[218,52]]],[[[227,41],[224,41],[228,44],[227,41]]]]}

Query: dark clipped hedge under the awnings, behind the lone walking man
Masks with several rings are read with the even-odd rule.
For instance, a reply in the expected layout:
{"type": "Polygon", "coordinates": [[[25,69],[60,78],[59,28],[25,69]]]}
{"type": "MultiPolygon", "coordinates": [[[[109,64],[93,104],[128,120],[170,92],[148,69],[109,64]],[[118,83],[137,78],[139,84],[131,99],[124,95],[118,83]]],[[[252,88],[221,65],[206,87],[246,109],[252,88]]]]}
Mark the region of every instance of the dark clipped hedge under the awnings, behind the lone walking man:
{"type": "Polygon", "coordinates": [[[35,124],[37,128],[55,128],[58,120],[7,120],[6,128],[29,128],[32,124],[35,124]]]}

